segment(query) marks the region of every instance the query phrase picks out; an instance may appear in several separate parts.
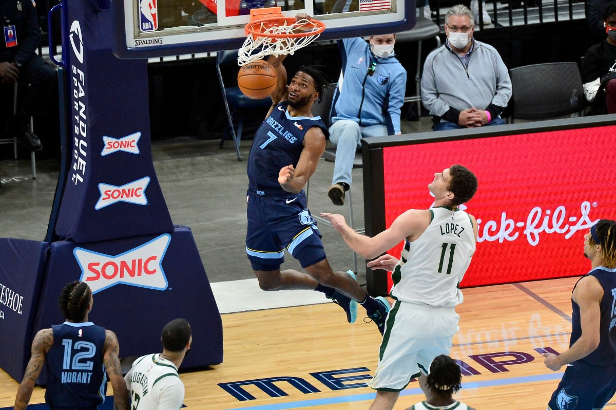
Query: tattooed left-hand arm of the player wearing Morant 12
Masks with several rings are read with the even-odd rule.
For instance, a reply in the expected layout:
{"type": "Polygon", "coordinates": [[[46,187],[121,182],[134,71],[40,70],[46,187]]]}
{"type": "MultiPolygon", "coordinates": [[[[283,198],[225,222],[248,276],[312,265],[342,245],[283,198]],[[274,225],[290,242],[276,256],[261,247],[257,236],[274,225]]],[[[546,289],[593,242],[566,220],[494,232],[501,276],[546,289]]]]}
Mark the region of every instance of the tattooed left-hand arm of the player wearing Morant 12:
{"type": "Polygon", "coordinates": [[[24,410],[28,406],[32,391],[34,390],[34,383],[36,383],[36,379],[41,374],[41,370],[43,370],[45,356],[52,345],[54,345],[54,330],[39,330],[36,336],[34,336],[30,361],[23,375],[22,383],[17,390],[17,397],[15,397],[15,410],[24,410]]]}

